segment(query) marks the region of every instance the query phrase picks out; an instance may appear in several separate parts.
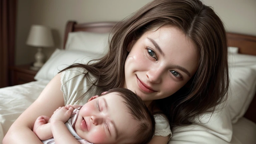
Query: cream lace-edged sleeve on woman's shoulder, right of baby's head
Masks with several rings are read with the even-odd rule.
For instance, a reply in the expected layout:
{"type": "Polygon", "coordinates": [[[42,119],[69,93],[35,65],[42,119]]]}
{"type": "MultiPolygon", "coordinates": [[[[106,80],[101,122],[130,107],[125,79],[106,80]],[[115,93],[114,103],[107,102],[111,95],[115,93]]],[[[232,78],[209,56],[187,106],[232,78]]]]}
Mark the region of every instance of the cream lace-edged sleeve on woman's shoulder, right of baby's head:
{"type": "Polygon", "coordinates": [[[172,131],[170,129],[169,121],[164,114],[155,114],[155,135],[156,136],[169,136],[172,137],[172,131]]]}

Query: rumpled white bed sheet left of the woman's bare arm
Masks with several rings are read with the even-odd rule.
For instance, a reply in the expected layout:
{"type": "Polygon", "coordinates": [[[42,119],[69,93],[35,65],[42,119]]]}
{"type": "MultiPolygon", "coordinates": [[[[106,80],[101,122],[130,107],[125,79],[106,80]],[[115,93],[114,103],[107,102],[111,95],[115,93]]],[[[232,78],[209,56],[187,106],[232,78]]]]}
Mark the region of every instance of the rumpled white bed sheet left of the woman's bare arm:
{"type": "Polygon", "coordinates": [[[12,123],[39,96],[49,81],[35,81],[0,89],[0,144],[12,123]]]}

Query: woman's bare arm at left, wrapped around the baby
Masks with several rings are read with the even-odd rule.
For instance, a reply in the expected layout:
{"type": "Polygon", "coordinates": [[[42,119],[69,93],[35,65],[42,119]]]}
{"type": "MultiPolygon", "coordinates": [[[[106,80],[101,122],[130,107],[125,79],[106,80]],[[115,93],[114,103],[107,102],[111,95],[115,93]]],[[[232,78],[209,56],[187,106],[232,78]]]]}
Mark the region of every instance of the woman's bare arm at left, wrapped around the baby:
{"type": "Polygon", "coordinates": [[[3,139],[3,144],[42,144],[32,131],[33,125],[37,117],[41,115],[51,117],[58,107],[64,106],[63,92],[60,90],[60,75],[61,73],[57,74],[49,82],[37,100],[12,124],[3,139]]]}

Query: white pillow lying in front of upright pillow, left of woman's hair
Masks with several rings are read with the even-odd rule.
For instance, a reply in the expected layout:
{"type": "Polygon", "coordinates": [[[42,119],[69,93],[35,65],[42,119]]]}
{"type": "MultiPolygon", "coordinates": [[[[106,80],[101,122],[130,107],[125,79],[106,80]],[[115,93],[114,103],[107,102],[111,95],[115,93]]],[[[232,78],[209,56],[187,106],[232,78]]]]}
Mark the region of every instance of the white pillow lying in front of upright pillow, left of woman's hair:
{"type": "Polygon", "coordinates": [[[35,80],[51,80],[57,73],[74,63],[87,64],[92,59],[98,59],[103,55],[91,52],[70,51],[56,49],[49,60],[38,71],[35,80]]]}

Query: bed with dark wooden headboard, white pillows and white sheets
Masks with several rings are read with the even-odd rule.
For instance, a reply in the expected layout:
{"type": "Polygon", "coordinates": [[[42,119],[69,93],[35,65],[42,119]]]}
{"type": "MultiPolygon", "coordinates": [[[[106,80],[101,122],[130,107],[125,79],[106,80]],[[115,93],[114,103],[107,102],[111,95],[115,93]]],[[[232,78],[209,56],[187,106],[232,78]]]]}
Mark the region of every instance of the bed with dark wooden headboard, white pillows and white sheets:
{"type": "MultiPolygon", "coordinates": [[[[0,143],[11,124],[39,96],[57,72],[72,63],[87,63],[107,53],[109,31],[115,22],[66,24],[64,47],[56,49],[35,76],[37,81],[0,89],[0,143]],[[84,49],[85,48],[85,49],[84,49]]],[[[227,105],[204,124],[173,130],[168,144],[256,143],[256,37],[227,33],[231,87],[227,105]]]]}

